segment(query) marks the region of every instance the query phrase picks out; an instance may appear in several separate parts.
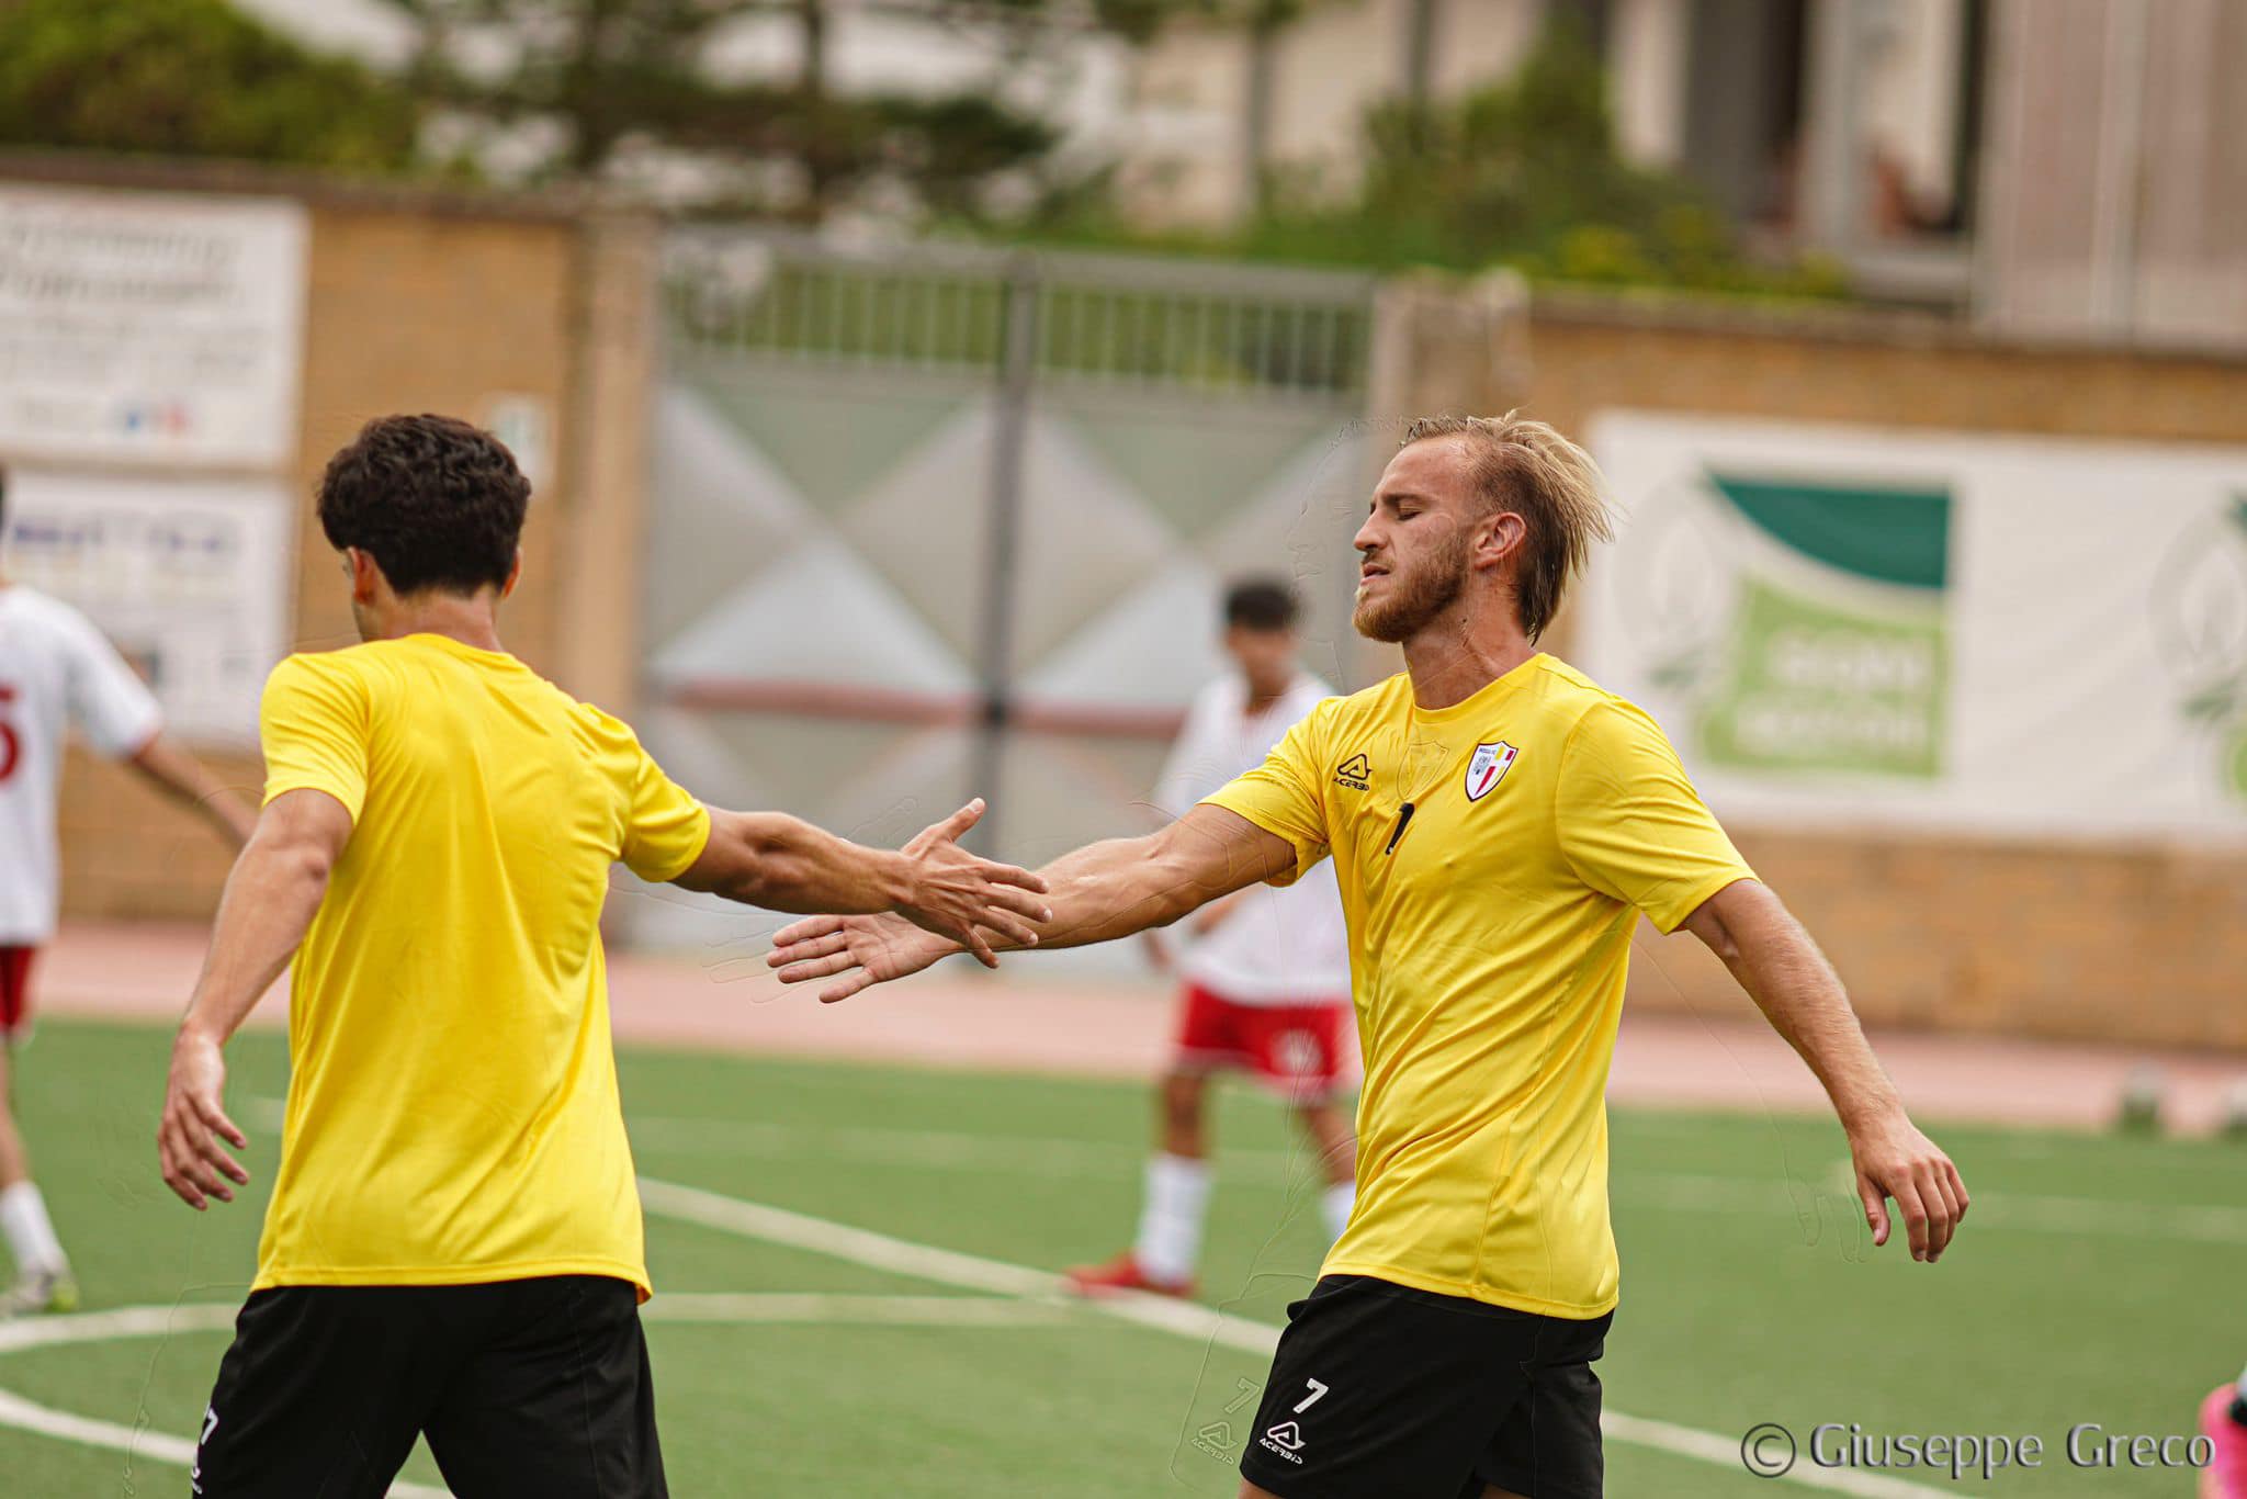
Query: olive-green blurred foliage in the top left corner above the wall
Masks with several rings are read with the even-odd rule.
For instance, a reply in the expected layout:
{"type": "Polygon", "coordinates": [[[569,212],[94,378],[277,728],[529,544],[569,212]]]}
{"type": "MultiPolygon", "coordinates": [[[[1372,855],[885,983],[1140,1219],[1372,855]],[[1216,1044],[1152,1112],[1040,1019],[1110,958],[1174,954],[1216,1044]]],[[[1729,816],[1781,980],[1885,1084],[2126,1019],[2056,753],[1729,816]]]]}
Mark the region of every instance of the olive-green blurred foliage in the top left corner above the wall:
{"type": "Polygon", "coordinates": [[[402,171],[418,119],[225,0],[0,0],[0,144],[402,171]]]}

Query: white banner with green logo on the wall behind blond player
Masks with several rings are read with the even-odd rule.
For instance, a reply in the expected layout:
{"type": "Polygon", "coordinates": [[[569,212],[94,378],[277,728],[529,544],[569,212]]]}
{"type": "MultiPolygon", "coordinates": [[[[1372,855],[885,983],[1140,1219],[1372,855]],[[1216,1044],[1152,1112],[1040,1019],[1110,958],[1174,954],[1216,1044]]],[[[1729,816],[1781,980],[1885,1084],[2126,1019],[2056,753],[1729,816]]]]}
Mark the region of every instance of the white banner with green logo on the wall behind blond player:
{"type": "Polygon", "coordinates": [[[2247,449],[1611,411],[1575,656],[1741,823],[2247,843],[2247,449]]]}

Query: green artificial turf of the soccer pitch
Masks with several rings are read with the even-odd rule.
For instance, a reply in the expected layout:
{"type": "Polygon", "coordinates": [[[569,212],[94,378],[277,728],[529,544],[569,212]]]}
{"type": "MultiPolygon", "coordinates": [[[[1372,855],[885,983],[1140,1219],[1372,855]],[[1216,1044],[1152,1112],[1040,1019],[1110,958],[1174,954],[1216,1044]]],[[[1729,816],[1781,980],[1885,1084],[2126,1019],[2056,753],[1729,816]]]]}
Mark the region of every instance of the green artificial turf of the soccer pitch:
{"type": "MultiPolygon", "coordinates": [[[[276,1144],[261,1099],[283,1092],[283,1047],[265,1034],[231,1047],[229,1101],[258,1180],[198,1216],[155,1173],[166,1045],[160,1029],[47,1023],[16,1059],[18,1112],[88,1310],[227,1303],[252,1272],[276,1144]]],[[[620,1068],[654,1180],[1038,1270],[1106,1259],[1130,1234],[1144,1088],[638,1050],[620,1068]]],[[[1317,1270],[1319,1180],[1288,1115],[1252,1090],[1220,1094],[1216,1130],[1202,1299],[1279,1324],[1317,1270]]],[[[1926,1492],[2191,1492],[2193,1474],[2069,1468],[2063,1441],[2074,1423],[2189,1434],[2200,1396],[2238,1373],[2247,1148],[1935,1133],[1975,1207],[1930,1268],[1870,1250],[1831,1121],[1616,1110],[1625,1272],[1600,1373],[1611,1411],[1672,1436],[1613,1436],[1611,1495],[1768,1495],[1723,1461],[1766,1420],[1804,1443],[1818,1423],[2045,1441],[2043,1470],[1986,1483],[1887,1474],[1926,1492]],[[1676,1450],[1692,1434],[1708,1456],[1676,1450]]],[[[1193,1438],[1256,1387],[1252,1351],[1072,1308],[1020,1326],[672,1319],[665,1292],[993,1292],[661,1214],[647,1247],[674,1495],[1234,1492],[1231,1465],[1193,1438]]],[[[189,1438],[225,1337],[0,1353],[0,1391],[189,1438]]],[[[427,1452],[404,1477],[438,1481],[427,1452]]],[[[187,1474],[0,1425],[0,1492],[184,1495],[187,1474]]]]}

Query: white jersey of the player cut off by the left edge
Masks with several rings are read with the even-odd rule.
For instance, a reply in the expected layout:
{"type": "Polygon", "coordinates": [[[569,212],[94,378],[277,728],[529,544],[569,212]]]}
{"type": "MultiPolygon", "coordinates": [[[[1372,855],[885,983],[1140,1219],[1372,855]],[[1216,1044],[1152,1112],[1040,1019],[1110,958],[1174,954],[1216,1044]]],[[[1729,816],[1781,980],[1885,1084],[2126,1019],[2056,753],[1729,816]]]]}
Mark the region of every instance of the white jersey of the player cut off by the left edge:
{"type": "Polygon", "coordinates": [[[155,694],[58,598],[0,587],[0,946],[54,935],[54,805],[70,724],[103,755],[137,755],[164,726],[155,694]]]}

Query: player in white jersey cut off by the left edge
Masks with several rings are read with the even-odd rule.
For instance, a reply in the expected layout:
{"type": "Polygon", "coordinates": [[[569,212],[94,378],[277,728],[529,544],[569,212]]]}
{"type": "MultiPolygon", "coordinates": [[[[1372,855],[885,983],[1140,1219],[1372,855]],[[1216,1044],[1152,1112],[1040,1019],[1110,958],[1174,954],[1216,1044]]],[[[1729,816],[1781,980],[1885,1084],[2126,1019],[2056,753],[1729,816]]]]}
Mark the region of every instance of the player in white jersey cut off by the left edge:
{"type": "Polygon", "coordinates": [[[31,1034],[31,957],[54,937],[61,901],[54,805],[70,724],[101,755],[193,805],[236,847],[252,825],[240,798],[164,742],[155,697],[101,632],[70,605],[9,582],[0,557],[0,1238],[16,1272],[0,1317],[67,1312],[79,1299],[9,1103],[13,1054],[31,1034]]]}

